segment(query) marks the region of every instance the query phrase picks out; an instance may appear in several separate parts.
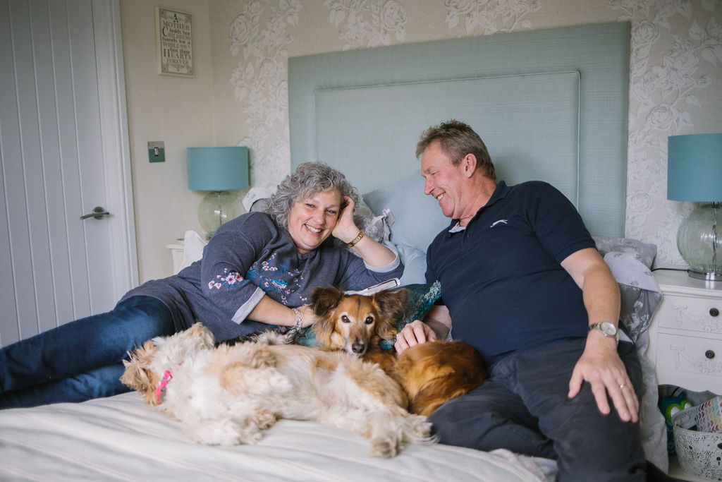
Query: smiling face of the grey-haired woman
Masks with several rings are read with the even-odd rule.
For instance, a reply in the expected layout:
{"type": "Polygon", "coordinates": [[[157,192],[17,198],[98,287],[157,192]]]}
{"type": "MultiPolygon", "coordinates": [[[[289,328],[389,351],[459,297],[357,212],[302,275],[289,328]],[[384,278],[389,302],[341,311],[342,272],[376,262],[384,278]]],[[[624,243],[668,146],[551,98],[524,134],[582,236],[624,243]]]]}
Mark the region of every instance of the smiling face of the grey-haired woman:
{"type": "Polygon", "coordinates": [[[288,215],[288,232],[300,254],[321,246],[331,236],[341,212],[338,189],[311,194],[294,203],[288,215]]]}

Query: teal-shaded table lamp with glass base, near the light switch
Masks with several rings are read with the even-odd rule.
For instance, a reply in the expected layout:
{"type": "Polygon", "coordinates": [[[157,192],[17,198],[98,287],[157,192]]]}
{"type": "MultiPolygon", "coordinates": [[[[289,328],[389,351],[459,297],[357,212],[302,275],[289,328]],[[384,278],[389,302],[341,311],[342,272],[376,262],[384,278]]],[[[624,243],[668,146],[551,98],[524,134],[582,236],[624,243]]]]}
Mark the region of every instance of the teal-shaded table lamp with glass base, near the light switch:
{"type": "Polygon", "coordinates": [[[211,238],[220,225],[245,212],[228,191],[248,189],[248,147],[188,147],[187,157],[188,189],[211,191],[198,207],[201,228],[211,238]]]}

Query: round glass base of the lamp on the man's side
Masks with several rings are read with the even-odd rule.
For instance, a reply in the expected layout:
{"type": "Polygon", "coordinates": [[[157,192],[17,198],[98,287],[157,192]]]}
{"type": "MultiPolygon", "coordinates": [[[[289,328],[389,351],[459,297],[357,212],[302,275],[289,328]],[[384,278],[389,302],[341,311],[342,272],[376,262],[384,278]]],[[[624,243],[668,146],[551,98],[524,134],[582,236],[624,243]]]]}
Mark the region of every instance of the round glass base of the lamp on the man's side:
{"type": "Polygon", "coordinates": [[[677,249],[689,275],[708,281],[722,281],[722,206],[718,202],[700,205],[682,221],[677,231],[677,249]]]}

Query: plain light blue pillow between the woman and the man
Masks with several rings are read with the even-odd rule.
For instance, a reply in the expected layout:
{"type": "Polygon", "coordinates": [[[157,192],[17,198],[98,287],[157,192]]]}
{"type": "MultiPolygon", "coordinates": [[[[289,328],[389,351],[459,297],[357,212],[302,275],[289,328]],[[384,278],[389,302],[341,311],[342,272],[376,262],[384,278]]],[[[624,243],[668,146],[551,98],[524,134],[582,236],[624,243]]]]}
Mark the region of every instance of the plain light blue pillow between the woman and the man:
{"type": "Polygon", "coordinates": [[[373,212],[391,210],[391,242],[412,246],[426,252],[435,236],[451,220],[441,212],[436,199],[424,194],[424,178],[420,171],[401,179],[385,189],[363,195],[373,212]]]}

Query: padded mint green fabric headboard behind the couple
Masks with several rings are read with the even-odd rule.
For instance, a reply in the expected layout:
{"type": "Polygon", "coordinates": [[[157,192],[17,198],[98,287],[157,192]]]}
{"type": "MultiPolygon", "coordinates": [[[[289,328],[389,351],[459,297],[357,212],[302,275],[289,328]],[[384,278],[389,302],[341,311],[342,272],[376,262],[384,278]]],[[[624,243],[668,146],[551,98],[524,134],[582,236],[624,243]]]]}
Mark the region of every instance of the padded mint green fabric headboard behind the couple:
{"type": "Polygon", "coordinates": [[[292,169],[385,187],[418,171],[421,132],[458,119],[507,184],[548,181],[592,234],[624,236],[629,49],[614,22],[289,59],[292,169]]]}

